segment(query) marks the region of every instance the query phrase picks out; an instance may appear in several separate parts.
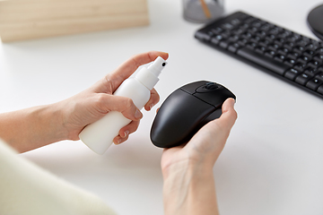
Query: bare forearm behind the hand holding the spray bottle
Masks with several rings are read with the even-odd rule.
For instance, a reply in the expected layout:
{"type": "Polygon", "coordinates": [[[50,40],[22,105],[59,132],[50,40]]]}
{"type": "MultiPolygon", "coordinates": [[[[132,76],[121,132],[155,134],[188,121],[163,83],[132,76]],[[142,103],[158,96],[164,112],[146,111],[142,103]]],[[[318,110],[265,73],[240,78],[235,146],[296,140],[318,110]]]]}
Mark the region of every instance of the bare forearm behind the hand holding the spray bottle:
{"type": "Polygon", "coordinates": [[[65,139],[58,104],[0,114],[0,138],[19,152],[65,139]]]}

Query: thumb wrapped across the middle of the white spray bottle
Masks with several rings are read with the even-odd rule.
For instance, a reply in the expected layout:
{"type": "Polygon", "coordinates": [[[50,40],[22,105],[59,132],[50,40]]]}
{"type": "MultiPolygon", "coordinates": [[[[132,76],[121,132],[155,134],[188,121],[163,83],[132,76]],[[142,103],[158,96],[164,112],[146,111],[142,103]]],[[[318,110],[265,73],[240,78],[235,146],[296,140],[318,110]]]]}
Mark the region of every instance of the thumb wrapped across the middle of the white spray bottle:
{"type": "Polygon", "coordinates": [[[98,93],[97,104],[94,104],[98,111],[107,114],[110,111],[118,111],[130,120],[139,120],[143,117],[140,110],[135,107],[132,99],[113,96],[105,93],[98,93]]]}

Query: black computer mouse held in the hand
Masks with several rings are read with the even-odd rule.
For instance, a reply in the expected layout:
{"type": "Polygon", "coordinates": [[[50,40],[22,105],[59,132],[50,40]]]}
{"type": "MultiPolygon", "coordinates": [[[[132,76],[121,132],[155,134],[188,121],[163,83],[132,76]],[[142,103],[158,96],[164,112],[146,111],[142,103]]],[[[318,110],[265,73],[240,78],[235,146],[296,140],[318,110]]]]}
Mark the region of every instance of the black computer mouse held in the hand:
{"type": "Polygon", "coordinates": [[[153,144],[170,148],[188,142],[203,125],[222,115],[223,102],[228,98],[236,99],[215,82],[191,82],[173,91],[153,120],[153,144]]]}

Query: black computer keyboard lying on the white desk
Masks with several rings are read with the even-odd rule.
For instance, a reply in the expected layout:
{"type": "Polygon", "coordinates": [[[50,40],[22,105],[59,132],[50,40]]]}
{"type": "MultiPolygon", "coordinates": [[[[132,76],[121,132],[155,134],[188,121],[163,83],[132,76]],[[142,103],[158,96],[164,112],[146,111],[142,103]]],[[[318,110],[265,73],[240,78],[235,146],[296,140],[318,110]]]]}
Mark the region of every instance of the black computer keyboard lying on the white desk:
{"type": "Polygon", "coordinates": [[[196,39],[323,99],[323,43],[247,13],[197,30],[196,39]]]}

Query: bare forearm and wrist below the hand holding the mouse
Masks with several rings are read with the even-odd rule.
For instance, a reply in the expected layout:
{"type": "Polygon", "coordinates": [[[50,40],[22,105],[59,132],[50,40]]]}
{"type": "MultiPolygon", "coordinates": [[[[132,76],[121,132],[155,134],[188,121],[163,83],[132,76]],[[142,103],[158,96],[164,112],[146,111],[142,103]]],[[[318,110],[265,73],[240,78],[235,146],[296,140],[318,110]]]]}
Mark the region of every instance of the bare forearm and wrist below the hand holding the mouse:
{"type": "Polygon", "coordinates": [[[212,167],[183,161],[163,171],[166,215],[218,213],[212,167]]]}

